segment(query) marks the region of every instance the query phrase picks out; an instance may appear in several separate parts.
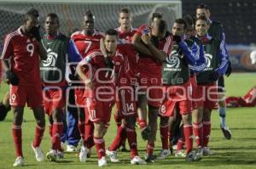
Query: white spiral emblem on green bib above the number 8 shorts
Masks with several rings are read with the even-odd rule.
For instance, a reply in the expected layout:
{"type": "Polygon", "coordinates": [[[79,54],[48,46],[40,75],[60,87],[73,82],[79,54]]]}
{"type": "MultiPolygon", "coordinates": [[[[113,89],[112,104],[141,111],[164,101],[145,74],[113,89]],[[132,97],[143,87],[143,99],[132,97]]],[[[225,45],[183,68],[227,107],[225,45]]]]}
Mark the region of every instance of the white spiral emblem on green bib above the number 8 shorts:
{"type": "Polygon", "coordinates": [[[177,50],[172,50],[172,53],[166,58],[167,68],[172,70],[180,70],[180,58],[177,50]]]}

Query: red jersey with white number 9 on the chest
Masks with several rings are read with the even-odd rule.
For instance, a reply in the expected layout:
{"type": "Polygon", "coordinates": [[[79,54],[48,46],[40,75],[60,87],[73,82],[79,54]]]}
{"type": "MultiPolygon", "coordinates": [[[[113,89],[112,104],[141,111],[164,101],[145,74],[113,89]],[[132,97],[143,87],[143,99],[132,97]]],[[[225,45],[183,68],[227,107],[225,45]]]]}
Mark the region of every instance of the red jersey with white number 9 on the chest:
{"type": "Polygon", "coordinates": [[[11,70],[19,77],[19,86],[34,86],[41,83],[38,42],[17,31],[5,37],[1,59],[10,59],[11,70]]]}

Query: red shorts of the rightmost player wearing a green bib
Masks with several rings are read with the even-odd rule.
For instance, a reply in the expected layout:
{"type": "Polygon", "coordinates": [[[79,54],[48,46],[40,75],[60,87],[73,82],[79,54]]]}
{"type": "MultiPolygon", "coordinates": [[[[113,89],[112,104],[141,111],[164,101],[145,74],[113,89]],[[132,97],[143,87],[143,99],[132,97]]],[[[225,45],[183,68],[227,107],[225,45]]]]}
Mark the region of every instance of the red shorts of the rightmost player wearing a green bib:
{"type": "Polygon", "coordinates": [[[197,85],[196,98],[197,107],[208,110],[218,109],[218,86],[216,82],[207,85],[197,85]]]}

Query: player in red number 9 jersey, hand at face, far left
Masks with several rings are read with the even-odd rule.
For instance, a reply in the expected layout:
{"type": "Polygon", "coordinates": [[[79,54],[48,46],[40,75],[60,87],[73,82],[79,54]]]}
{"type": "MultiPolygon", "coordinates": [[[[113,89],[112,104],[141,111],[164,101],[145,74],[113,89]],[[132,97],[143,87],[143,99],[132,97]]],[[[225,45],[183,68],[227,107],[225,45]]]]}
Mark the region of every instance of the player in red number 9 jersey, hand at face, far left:
{"type": "Polygon", "coordinates": [[[44,161],[39,147],[45,127],[39,59],[46,59],[47,54],[41,42],[38,20],[38,10],[29,10],[23,25],[5,37],[1,56],[10,85],[10,105],[14,110],[13,136],[17,158],[13,166],[24,165],[21,125],[25,104],[32,108],[37,121],[32,149],[37,161],[44,161]]]}

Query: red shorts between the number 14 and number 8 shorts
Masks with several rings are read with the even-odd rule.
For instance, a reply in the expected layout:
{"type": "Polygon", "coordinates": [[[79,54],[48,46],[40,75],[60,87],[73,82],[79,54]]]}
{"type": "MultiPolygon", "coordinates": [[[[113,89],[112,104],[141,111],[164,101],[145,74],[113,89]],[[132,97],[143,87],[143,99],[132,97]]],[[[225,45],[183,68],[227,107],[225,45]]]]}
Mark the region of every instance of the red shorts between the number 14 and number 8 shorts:
{"type": "Polygon", "coordinates": [[[160,108],[162,100],[164,99],[161,76],[150,76],[140,74],[139,91],[147,93],[148,104],[160,108]]]}

